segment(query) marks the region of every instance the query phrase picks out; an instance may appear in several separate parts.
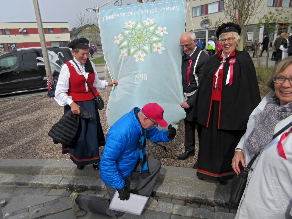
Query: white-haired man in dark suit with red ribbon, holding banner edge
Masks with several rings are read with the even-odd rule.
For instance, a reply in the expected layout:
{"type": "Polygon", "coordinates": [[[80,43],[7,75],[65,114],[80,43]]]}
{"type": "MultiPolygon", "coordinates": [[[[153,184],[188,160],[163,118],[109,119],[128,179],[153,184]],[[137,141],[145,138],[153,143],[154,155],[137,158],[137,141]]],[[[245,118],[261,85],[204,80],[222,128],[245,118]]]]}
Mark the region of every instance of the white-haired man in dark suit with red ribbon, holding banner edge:
{"type": "MultiPolygon", "coordinates": [[[[184,102],[181,107],[186,111],[184,119],[185,151],[178,156],[178,159],[185,160],[195,155],[195,128],[196,121],[193,118],[193,104],[196,98],[196,91],[205,71],[208,55],[198,47],[196,35],[193,32],[185,32],[181,35],[180,46],[184,53],[181,62],[181,77],[184,91],[184,102]]],[[[199,134],[199,133],[198,133],[199,134]]],[[[196,164],[194,165],[196,168],[196,164]]]]}

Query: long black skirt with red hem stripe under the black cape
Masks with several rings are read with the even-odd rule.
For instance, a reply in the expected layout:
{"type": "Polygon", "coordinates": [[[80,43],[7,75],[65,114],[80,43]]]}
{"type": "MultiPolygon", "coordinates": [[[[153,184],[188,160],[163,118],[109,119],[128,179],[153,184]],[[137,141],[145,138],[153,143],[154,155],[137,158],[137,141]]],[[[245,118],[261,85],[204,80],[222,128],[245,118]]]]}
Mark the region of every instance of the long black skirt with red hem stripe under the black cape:
{"type": "MultiPolygon", "coordinates": [[[[209,126],[199,125],[197,176],[214,181],[233,178],[235,172],[231,167],[234,149],[245,130],[218,129],[219,101],[212,101],[209,126]]],[[[240,117],[240,114],[238,115],[240,117]]]]}

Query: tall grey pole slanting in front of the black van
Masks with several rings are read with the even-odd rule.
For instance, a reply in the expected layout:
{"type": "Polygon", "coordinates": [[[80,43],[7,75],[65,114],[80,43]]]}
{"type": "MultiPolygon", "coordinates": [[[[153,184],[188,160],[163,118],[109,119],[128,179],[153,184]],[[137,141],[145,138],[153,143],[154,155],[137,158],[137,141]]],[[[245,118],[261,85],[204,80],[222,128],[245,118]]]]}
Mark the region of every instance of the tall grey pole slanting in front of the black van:
{"type": "Polygon", "coordinates": [[[46,46],[46,39],[45,39],[45,34],[44,34],[43,22],[41,19],[40,8],[38,5],[38,0],[32,0],[32,1],[33,1],[33,6],[35,8],[35,18],[38,24],[38,33],[40,35],[41,48],[43,52],[46,74],[47,76],[49,76],[52,86],[54,86],[52,69],[51,69],[50,60],[49,60],[48,48],[46,46]]]}

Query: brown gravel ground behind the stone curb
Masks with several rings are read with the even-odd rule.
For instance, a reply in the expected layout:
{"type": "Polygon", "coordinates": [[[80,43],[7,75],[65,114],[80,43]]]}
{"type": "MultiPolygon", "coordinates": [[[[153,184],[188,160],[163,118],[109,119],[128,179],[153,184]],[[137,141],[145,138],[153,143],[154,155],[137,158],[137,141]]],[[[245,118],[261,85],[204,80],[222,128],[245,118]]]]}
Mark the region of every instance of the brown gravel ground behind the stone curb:
{"type": "MultiPolygon", "coordinates": [[[[111,88],[99,90],[105,108],[111,88]]],[[[105,109],[99,111],[100,121],[105,136],[108,125],[105,109]]],[[[42,159],[69,159],[68,154],[61,154],[61,145],[55,145],[48,132],[63,115],[63,107],[55,102],[54,98],[46,96],[26,97],[1,102],[0,108],[0,158],[42,158],[42,159]]],[[[196,134],[198,145],[198,136],[196,134]]],[[[147,155],[161,161],[162,165],[176,167],[192,167],[197,160],[196,156],[181,161],[177,156],[184,152],[184,122],[180,123],[173,140],[175,158],[172,158],[170,143],[153,143],[147,141],[147,155]]],[[[103,147],[100,147],[102,155],[103,147]]]]}

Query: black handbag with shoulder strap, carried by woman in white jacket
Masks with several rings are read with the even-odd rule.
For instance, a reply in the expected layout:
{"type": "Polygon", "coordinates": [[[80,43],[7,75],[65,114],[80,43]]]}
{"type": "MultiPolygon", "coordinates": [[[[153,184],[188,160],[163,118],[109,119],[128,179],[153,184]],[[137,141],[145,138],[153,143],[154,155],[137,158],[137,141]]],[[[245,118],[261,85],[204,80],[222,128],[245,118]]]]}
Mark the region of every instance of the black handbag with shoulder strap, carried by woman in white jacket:
{"type": "MultiPolygon", "coordinates": [[[[290,126],[292,126],[292,122],[290,122],[288,125],[286,125],[284,128],[282,128],[276,134],[274,134],[273,135],[273,139],[276,138],[277,136],[279,136],[286,129],[290,128],[290,126]]],[[[260,153],[254,155],[254,157],[248,162],[246,167],[243,167],[241,165],[241,163],[239,163],[240,174],[234,175],[234,177],[233,177],[233,179],[231,181],[229,203],[234,204],[236,206],[239,205],[241,197],[243,195],[243,192],[244,192],[244,190],[246,188],[248,172],[249,172],[249,170],[251,168],[251,165],[253,164],[254,160],[257,158],[257,156],[259,154],[260,153]]]]}

